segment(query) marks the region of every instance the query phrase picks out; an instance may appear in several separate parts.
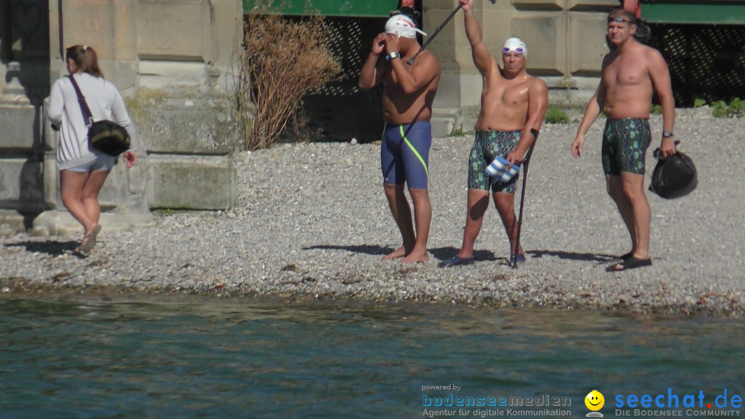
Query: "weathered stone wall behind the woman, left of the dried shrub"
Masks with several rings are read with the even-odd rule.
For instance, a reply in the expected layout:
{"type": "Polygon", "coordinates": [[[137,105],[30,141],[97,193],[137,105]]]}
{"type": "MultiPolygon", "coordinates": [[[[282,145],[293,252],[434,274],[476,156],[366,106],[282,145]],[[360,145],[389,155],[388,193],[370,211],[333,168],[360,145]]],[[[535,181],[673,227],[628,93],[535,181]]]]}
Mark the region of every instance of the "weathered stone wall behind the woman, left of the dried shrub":
{"type": "Polygon", "coordinates": [[[80,231],[60,201],[43,102],[75,44],[95,48],[136,125],[138,164],[112,170],[102,223],[148,223],[151,208],[234,207],[241,23],[241,0],[0,0],[0,230],[80,231]]]}

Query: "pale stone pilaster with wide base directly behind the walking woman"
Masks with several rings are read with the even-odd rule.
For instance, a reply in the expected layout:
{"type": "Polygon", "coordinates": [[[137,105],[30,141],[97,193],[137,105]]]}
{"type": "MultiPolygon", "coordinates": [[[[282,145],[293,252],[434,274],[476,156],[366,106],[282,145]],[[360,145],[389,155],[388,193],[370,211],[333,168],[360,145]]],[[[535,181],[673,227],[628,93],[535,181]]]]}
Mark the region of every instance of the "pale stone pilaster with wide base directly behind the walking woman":
{"type": "MultiPolygon", "coordinates": [[[[64,50],[69,46],[90,45],[98,54],[98,63],[107,80],[114,83],[125,97],[136,88],[138,62],[136,55],[136,0],[62,0],[48,1],[49,42],[51,57],[51,83],[67,73],[64,50]]],[[[131,112],[130,112],[131,113],[131,112]]],[[[101,225],[107,230],[136,228],[152,221],[147,202],[148,156],[142,129],[137,127],[137,164],[127,170],[117,164],[101,189],[101,225]]],[[[60,199],[59,172],[55,161],[58,133],[45,124],[46,142],[49,145],[44,159],[44,197],[48,211],[34,219],[31,234],[69,235],[83,231],[66,211],[60,199]]]]}

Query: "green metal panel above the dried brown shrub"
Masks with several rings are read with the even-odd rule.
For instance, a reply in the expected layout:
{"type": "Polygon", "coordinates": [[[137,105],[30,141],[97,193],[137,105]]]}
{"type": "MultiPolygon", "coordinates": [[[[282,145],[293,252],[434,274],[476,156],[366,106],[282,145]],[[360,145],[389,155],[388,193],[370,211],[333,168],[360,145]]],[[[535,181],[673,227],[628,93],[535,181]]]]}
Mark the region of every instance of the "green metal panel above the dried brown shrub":
{"type": "Polygon", "coordinates": [[[262,13],[307,15],[318,12],[323,16],[388,17],[399,7],[399,0],[243,0],[244,13],[251,13],[255,4],[269,5],[262,13]]]}

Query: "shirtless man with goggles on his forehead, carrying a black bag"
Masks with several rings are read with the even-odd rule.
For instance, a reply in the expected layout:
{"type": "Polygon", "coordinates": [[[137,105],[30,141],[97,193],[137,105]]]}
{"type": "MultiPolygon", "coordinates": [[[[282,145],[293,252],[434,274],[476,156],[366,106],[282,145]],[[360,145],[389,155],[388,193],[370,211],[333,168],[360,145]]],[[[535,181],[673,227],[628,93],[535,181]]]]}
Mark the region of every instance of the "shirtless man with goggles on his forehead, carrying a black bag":
{"type": "Polygon", "coordinates": [[[644,192],[644,159],[652,140],[649,117],[653,92],[662,104],[662,157],[676,153],[673,143],[675,101],[670,73],[662,54],[634,39],[635,16],[623,9],[608,15],[611,52],[603,58],[600,85],[590,99],[585,115],[571,143],[571,153],[579,158],[585,134],[604,112],[603,172],[608,194],[621,213],[631,236],[631,251],[620,256],[621,263],[609,271],[650,266],[651,211],[644,192]]]}

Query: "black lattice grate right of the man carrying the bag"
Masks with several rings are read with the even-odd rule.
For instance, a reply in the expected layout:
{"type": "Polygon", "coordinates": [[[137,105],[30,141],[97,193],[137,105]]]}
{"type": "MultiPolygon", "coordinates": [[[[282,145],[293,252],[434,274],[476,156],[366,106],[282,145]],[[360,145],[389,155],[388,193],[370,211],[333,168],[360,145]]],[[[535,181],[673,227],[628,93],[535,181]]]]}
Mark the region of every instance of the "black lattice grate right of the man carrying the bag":
{"type": "Polygon", "coordinates": [[[745,26],[650,25],[670,67],[676,106],[745,99],[745,26]]]}

